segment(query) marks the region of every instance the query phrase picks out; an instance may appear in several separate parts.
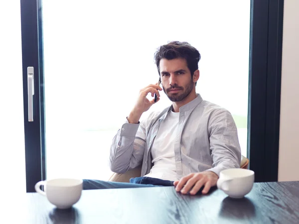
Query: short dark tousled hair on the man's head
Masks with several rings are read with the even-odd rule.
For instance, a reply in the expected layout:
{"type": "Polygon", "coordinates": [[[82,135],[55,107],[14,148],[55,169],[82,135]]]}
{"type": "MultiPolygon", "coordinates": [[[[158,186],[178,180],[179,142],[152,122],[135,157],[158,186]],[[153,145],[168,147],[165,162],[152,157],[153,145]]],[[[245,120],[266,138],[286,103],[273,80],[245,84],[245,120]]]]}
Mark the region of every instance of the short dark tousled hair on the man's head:
{"type": "Polygon", "coordinates": [[[160,60],[175,58],[184,58],[187,61],[188,69],[191,72],[191,77],[195,70],[198,69],[198,62],[201,58],[199,51],[192,47],[188,42],[171,41],[157,48],[154,53],[155,64],[160,75],[160,60]]]}

